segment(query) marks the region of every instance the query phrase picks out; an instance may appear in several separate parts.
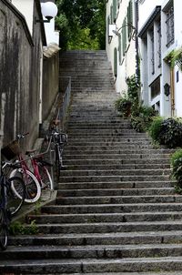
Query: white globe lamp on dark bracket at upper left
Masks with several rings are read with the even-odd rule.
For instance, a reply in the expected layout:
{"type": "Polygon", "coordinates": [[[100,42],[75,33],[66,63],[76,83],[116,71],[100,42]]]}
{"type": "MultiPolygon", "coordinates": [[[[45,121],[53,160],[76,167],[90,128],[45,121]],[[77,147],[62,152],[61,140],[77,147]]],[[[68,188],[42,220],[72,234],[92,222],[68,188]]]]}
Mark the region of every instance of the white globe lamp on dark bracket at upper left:
{"type": "Polygon", "coordinates": [[[39,20],[35,18],[35,23],[49,23],[52,18],[57,15],[57,6],[53,2],[45,2],[41,5],[42,15],[45,16],[46,20],[39,20]]]}

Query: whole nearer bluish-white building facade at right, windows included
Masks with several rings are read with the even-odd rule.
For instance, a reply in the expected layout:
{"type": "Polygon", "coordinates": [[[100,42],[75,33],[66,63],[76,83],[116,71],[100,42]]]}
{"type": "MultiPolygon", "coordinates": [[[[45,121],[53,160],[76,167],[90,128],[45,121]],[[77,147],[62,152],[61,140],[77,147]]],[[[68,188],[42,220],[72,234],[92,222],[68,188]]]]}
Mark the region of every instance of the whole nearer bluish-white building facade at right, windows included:
{"type": "Polygon", "coordinates": [[[182,1],[139,0],[138,36],[141,51],[141,97],[160,116],[182,116],[182,79],[167,56],[182,46],[182,1]]]}

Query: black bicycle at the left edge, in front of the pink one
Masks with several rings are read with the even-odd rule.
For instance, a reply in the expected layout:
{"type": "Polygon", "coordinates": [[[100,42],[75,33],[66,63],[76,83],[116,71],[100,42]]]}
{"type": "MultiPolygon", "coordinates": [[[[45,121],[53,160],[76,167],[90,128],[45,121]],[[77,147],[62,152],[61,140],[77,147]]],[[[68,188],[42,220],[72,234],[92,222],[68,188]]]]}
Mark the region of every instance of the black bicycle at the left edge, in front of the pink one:
{"type": "Polygon", "coordinates": [[[0,176],[0,248],[5,250],[8,241],[8,229],[11,218],[21,209],[25,200],[25,183],[21,178],[7,178],[5,168],[12,167],[11,163],[4,162],[0,176]],[[21,198],[17,197],[12,184],[18,189],[21,198]]]}

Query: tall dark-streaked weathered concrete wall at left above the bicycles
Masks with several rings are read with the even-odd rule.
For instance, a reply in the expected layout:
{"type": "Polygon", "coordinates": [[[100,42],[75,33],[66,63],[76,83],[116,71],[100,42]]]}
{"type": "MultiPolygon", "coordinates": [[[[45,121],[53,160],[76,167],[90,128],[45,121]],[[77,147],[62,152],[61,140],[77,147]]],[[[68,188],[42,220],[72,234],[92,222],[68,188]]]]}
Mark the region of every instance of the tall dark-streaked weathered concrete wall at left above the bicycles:
{"type": "Polygon", "coordinates": [[[0,126],[4,144],[27,131],[26,145],[38,137],[40,34],[40,24],[36,24],[32,40],[24,17],[0,1],[0,126]]]}

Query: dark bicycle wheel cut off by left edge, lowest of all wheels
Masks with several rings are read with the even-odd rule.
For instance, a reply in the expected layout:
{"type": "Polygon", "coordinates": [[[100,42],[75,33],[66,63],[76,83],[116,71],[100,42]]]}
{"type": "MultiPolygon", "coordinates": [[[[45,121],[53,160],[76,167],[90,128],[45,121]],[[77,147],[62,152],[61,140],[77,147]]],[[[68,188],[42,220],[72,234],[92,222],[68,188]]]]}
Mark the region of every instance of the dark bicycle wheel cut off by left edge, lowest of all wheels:
{"type": "Polygon", "coordinates": [[[5,209],[0,209],[0,248],[5,250],[8,240],[8,226],[7,217],[5,215],[5,209]]]}

